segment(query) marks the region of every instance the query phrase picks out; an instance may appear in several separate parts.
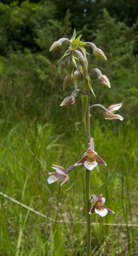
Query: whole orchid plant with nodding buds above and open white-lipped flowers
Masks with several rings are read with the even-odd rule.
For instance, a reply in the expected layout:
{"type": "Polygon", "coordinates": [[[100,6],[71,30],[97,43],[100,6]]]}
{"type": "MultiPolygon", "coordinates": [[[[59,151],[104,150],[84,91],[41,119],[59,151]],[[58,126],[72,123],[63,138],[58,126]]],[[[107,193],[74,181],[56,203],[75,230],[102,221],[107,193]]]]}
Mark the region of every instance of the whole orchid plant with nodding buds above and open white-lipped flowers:
{"type": "MultiPolygon", "coordinates": [[[[82,116],[84,122],[84,128],[86,132],[87,138],[87,151],[84,153],[84,157],[81,158],[77,163],[72,164],[67,170],[62,166],[54,165],[52,167],[56,170],[56,172],[50,172],[48,183],[54,183],[55,181],[62,181],[61,185],[65,184],[69,180],[69,174],[72,172],[77,166],[82,165],[85,168],[86,172],[86,220],[87,220],[87,236],[86,236],[86,256],[91,255],[91,214],[94,212],[99,214],[100,216],[105,216],[107,213],[114,213],[114,211],[103,206],[105,202],[105,198],[102,197],[102,194],[98,197],[96,195],[92,195],[90,197],[90,171],[92,171],[95,167],[98,169],[98,164],[102,164],[107,166],[104,160],[102,160],[97,152],[94,150],[94,142],[93,137],[90,136],[90,110],[91,108],[97,107],[103,111],[103,117],[105,119],[120,119],[123,120],[123,117],[119,114],[114,114],[116,110],[118,110],[122,104],[114,104],[109,106],[107,109],[100,105],[95,104],[90,106],[90,91],[95,96],[95,93],[92,89],[92,84],[90,80],[90,75],[95,72],[98,76],[98,83],[100,86],[108,88],[111,87],[110,82],[106,75],[102,75],[102,72],[95,68],[88,74],[88,61],[87,61],[87,52],[86,47],[89,46],[93,49],[93,54],[101,58],[103,60],[107,60],[103,51],[91,42],[82,42],[80,40],[81,36],[76,38],[76,31],[74,30],[72,38],[69,40],[67,38],[61,38],[58,41],[54,42],[49,51],[57,50],[62,46],[62,43],[68,42],[69,47],[65,54],[58,61],[59,73],[61,73],[62,69],[67,68],[68,75],[64,79],[63,90],[66,89],[70,84],[74,83],[75,90],[72,92],[70,96],[67,96],[61,103],[60,106],[71,107],[75,102],[75,97],[77,93],[81,93],[83,96],[81,98],[82,103],[82,116]],[[76,69],[74,71],[74,69],[76,69]],[[83,76],[83,84],[84,84],[84,92],[78,89],[78,85],[81,80],[81,74],[83,76]],[[90,202],[93,200],[94,205],[91,208],[90,202]]],[[[96,97],[96,96],[95,96],[96,97]]],[[[112,175],[113,176],[113,175],[112,175]]],[[[111,180],[111,178],[110,178],[111,180]]],[[[109,180],[109,181],[110,181],[109,180]]],[[[106,184],[109,182],[107,181],[106,184]]]]}

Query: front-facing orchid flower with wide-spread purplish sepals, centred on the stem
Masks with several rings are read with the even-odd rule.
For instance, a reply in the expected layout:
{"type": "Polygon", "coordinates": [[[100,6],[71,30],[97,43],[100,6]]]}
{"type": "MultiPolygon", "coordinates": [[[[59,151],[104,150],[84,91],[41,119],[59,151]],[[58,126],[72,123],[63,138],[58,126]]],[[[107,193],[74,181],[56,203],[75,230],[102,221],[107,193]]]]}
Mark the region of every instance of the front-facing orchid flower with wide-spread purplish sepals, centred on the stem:
{"type": "Polygon", "coordinates": [[[93,170],[98,164],[103,164],[107,166],[105,161],[103,161],[91,148],[88,148],[87,151],[84,153],[84,157],[81,158],[74,166],[77,165],[84,165],[84,167],[88,170],[93,170]]]}

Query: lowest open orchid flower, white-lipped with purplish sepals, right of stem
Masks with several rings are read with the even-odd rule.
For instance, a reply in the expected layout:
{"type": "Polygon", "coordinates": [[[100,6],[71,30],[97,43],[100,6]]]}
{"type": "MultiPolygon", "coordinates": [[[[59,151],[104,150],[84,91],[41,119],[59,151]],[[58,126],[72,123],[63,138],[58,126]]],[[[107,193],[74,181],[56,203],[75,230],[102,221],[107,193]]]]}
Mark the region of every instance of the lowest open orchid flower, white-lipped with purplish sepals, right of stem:
{"type": "Polygon", "coordinates": [[[95,195],[92,195],[92,199],[95,204],[93,205],[89,214],[92,214],[95,211],[97,214],[104,217],[107,215],[107,213],[114,213],[114,211],[103,206],[103,204],[105,203],[105,198],[102,197],[102,194],[99,195],[98,197],[96,197],[95,195]]]}

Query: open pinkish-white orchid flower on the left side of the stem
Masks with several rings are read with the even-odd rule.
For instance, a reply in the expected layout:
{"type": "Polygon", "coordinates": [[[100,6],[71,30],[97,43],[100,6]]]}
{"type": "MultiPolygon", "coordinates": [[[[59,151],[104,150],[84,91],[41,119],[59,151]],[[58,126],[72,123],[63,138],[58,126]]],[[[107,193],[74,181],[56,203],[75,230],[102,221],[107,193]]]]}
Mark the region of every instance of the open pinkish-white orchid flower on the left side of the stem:
{"type": "Polygon", "coordinates": [[[65,171],[65,168],[59,165],[53,164],[53,169],[56,170],[56,172],[49,172],[50,175],[48,178],[48,184],[54,183],[55,181],[63,181],[61,183],[61,186],[68,182],[69,176],[68,173],[65,171]]]}

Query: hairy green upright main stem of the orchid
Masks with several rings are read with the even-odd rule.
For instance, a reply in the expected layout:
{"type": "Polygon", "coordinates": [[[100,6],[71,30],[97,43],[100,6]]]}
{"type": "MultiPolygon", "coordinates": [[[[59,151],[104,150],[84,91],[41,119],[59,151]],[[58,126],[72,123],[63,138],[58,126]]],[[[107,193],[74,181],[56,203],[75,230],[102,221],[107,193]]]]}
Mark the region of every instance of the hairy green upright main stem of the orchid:
{"type": "MultiPolygon", "coordinates": [[[[89,85],[86,79],[86,73],[83,71],[83,81],[85,87],[85,93],[88,96],[88,105],[86,111],[86,137],[87,137],[87,148],[89,147],[90,141],[90,93],[89,93],[89,85]]],[[[87,237],[86,237],[86,256],[91,255],[91,214],[90,211],[90,171],[86,169],[86,220],[87,220],[87,237]]]]}

